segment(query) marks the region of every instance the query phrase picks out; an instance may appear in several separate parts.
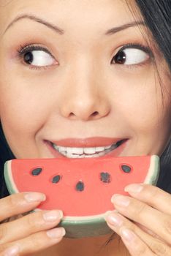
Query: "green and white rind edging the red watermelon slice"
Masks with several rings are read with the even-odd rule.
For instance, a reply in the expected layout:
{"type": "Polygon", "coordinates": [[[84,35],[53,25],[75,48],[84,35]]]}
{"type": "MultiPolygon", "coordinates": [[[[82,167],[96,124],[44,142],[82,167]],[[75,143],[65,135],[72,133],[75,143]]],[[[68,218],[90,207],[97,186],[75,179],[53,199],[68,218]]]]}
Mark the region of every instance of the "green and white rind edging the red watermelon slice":
{"type": "MultiPolygon", "coordinates": [[[[18,189],[12,178],[11,162],[7,161],[4,165],[4,178],[7,184],[9,194],[18,193],[18,189]]],[[[159,178],[159,157],[151,156],[151,163],[144,184],[156,185],[159,178]]],[[[39,208],[34,211],[39,210],[39,208]]],[[[115,210],[114,210],[115,211],[115,210]]],[[[33,212],[33,211],[32,211],[33,212]]],[[[64,217],[58,227],[64,227],[66,230],[66,238],[82,238],[91,236],[104,236],[113,233],[113,230],[107,226],[105,217],[110,211],[104,214],[86,216],[86,217],[64,217]]]]}

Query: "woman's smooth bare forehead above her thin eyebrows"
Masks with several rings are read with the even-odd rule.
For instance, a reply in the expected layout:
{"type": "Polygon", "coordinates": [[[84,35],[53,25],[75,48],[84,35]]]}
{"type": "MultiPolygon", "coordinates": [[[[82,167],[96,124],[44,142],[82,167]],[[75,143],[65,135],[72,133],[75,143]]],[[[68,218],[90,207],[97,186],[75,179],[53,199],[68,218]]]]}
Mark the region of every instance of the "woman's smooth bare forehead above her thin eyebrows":
{"type": "Polygon", "coordinates": [[[39,14],[66,28],[77,23],[77,27],[99,25],[108,29],[134,20],[126,0],[0,0],[0,3],[0,19],[5,24],[23,13],[39,14]]]}

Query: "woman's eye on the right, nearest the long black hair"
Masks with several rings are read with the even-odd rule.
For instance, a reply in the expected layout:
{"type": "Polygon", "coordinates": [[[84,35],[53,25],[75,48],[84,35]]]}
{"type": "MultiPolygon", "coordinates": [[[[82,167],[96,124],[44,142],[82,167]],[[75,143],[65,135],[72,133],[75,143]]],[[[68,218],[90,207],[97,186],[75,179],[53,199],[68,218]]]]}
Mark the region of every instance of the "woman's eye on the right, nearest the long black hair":
{"type": "Polygon", "coordinates": [[[113,57],[111,64],[137,65],[148,61],[151,50],[140,45],[124,45],[113,57]]]}

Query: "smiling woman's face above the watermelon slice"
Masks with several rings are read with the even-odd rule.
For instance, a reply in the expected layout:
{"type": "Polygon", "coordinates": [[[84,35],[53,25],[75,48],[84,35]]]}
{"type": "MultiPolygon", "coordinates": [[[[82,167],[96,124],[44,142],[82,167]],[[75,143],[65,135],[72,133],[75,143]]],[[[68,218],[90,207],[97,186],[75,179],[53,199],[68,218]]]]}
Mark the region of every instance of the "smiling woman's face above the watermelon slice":
{"type": "Polygon", "coordinates": [[[123,1],[1,4],[0,118],[16,157],[161,154],[170,79],[123,1]]]}

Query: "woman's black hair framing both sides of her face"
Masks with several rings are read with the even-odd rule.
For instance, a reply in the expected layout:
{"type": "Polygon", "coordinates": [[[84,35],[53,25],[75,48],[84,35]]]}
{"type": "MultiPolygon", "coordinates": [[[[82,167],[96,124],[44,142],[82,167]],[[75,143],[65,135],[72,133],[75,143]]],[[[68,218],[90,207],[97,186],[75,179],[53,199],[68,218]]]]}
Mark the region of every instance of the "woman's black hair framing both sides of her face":
{"type": "MultiPolygon", "coordinates": [[[[134,1],[171,71],[171,1],[134,1]]],[[[13,158],[15,156],[7,144],[0,124],[0,197],[8,195],[3,175],[4,162],[13,158]]],[[[171,144],[167,146],[161,155],[161,172],[157,186],[167,192],[171,192],[171,144]]]]}

